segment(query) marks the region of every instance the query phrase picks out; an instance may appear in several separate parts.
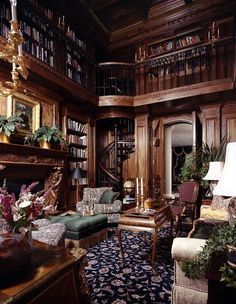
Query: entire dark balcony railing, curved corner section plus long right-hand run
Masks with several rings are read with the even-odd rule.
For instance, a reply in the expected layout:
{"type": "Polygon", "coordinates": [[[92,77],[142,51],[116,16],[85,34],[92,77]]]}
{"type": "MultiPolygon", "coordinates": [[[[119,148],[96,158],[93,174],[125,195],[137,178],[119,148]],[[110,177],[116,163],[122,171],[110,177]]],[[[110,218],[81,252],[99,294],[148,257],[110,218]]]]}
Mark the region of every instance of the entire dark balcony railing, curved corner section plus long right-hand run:
{"type": "Polygon", "coordinates": [[[101,63],[97,94],[134,96],[220,80],[233,77],[233,67],[234,39],[230,36],[138,64],[101,63]]]}

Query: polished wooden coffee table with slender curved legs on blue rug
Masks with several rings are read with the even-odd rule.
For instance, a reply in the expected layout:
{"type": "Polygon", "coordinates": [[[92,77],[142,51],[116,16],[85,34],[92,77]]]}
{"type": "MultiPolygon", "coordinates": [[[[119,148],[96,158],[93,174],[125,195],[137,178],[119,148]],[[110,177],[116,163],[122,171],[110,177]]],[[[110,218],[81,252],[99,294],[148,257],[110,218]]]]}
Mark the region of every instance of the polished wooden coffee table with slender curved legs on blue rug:
{"type": "Polygon", "coordinates": [[[124,248],[122,244],[122,230],[131,230],[134,232],[150,232],[152,234],[153,245],[152,245],[152,268],[154,270],[155,266],[155,255],[157,248],[157,229],[160,228],[166,222],[171,222],[171,231],[172,235],[173,229],[173,220],[171,216],[170,205],[166,204],[156,210],[152,215],[147,215],[140,212],[137,208],[129,209],[128,211],[121,214],[118,228],[117,228],[117,237],[120,245],[121,256],[123,265],[124,261],[124,248]]]}

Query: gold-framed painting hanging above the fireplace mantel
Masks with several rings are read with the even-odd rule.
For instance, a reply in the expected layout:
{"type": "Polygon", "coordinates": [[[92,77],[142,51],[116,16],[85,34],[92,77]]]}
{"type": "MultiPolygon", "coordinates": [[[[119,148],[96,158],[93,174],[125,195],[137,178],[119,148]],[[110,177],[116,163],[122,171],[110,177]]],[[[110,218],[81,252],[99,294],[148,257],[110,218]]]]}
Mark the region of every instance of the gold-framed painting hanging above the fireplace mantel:
{"type": "Polygon", "coordinates": [[[20,93],[9,96],[7,116],[10,115],[19,115],[23,118],[18,131],[30,133],[40,127],[40,103],[29,96],[20,93]]]}

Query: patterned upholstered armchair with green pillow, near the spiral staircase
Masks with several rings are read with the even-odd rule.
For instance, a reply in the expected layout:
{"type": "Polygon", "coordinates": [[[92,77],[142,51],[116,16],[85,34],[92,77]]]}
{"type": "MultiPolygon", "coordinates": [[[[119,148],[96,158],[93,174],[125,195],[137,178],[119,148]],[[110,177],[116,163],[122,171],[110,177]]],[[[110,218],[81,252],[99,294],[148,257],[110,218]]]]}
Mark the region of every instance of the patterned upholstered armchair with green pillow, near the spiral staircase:
{"type": "Polygon", "coordinates": [[[122,202],[117,198],[118,192],[113,192],[111,187],[89,188],[85,187],[83,199],[76,204],[76,210],[93,209],[95,214],[105,214],[108,223],[118,223],[122,202]]]}

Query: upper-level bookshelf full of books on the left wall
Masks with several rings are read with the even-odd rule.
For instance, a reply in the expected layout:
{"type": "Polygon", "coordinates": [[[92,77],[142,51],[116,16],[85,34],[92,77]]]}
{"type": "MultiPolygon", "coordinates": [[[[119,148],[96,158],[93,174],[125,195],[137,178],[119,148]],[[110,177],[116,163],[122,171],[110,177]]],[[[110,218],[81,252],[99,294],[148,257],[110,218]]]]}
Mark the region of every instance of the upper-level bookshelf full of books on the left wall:
{"type": "MultiPolygon", "coordinates": [[[[73,30],[66,17],[38,0],[19,1],[17,9],[25,40],[23,50],[94,92],[94,48],[73,30]]],[[[11,20],[9,1],[1,1],[0,13],[0,35],[7,38],[11,20]]]]}

